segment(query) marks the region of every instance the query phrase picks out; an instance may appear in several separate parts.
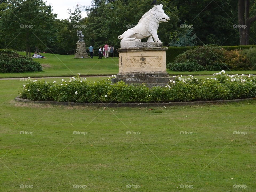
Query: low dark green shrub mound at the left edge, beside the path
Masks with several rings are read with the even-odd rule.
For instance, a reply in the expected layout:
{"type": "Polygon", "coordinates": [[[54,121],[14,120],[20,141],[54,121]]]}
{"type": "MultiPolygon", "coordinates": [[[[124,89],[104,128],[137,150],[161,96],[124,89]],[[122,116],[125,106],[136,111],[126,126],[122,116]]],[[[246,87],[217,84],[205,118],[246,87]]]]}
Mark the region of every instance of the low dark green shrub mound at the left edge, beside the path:
{"type": "Polygon", "coordinates": [[[0,50],[0,73],[42,71],[40,63],[13,50],[0,50]]]}

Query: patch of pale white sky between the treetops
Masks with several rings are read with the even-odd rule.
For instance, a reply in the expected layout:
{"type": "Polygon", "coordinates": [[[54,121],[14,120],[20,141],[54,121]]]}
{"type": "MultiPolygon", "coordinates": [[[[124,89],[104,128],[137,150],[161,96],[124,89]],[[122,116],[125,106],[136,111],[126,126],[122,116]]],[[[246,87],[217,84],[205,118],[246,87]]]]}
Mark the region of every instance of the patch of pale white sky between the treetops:
{"type": "MultiPolygon", "coordinates": [[[[91,5],[91,0],[45,0],[47,5],[51,4],[53,7],[53,13],[57,13],[59,19],[67,19],[69,18],[68,10],[74,10],[74,7],[79,3],[81,6],[89,6],[91,5]]],[[[82,18],[86,17],[86,12],[82,11],[82,18]]]]}

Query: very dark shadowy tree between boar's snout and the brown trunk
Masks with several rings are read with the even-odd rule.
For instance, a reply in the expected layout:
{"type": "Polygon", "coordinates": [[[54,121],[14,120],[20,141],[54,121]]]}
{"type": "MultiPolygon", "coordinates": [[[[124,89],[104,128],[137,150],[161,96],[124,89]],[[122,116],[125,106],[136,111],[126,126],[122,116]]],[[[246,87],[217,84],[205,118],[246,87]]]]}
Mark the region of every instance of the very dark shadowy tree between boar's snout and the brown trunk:
{"type": "Polygon", "coordinates": [[[187,21],[194,26],[199,45],[237,45],[239,37],[233,28],[236,20],[231,2],[234,0],[173,0],[171,4],[179,10],[179,24],[187,21]]]}

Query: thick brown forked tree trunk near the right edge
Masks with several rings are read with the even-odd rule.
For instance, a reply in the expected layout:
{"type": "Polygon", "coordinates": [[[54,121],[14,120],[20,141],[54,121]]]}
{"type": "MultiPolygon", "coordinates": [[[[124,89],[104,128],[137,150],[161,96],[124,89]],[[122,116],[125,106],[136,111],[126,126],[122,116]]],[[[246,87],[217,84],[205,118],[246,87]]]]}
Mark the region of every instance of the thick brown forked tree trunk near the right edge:
{"type": "MultiPolygon", "coordinates": [[[[255,1],[253,1],[255,3],[255,1]]],[[[256,20],[256,15],[250,17],[250,0],[238,1],[238,27],[240,45],[249,45],[250,27],[256,20]]]]}

